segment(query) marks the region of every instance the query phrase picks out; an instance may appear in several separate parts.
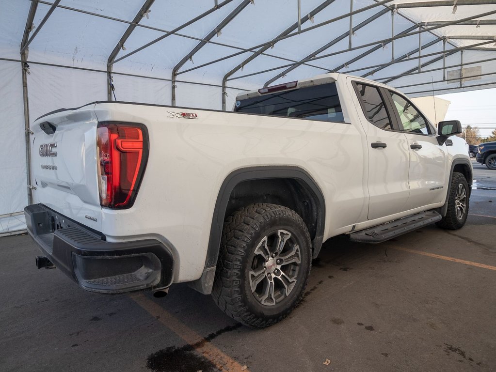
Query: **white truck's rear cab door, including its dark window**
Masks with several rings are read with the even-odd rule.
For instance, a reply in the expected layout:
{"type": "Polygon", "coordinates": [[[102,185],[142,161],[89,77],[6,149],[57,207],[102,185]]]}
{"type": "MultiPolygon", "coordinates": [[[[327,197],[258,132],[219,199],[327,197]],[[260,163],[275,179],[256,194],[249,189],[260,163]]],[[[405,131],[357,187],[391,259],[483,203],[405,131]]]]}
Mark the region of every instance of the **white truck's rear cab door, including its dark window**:
{"type": "Polygon", "coordinates": [[[352,80],[349,86],[360,102],[357,114],[367,135],[369,160],[368,219],[385,217],[405,210],[410,195],[408,182],[410,149],[405,134],[392,116],[385,90],[352,80]]]}

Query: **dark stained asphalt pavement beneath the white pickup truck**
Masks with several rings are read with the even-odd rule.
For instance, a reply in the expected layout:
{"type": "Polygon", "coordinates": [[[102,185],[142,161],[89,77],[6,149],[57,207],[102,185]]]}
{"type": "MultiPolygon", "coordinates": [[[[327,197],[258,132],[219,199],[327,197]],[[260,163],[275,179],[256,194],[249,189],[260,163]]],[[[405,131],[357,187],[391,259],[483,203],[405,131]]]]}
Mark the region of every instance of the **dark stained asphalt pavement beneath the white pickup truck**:
{"type": "Polygon", "coordinates": [[[300,306],[261,330],[174,285],[101,295],[0,238],[0,371],[496,371],[496,171],[474,161],[467,224],[378,245],[328,240],[300,306]]]}

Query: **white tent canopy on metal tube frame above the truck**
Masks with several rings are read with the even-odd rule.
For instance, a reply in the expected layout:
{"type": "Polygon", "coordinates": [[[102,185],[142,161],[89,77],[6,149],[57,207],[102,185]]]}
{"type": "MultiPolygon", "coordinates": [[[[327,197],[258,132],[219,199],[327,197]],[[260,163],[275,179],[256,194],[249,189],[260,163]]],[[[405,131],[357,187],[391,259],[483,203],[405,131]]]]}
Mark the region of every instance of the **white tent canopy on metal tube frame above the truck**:
{"type": "Polygon", "coordinates": [[[47,111],[230,109],[243,90],[328,71],[412,97],[490,88],[496,0],[0,0],[0,69],[2,234],[24,228],[25,129],[47,111]]]}

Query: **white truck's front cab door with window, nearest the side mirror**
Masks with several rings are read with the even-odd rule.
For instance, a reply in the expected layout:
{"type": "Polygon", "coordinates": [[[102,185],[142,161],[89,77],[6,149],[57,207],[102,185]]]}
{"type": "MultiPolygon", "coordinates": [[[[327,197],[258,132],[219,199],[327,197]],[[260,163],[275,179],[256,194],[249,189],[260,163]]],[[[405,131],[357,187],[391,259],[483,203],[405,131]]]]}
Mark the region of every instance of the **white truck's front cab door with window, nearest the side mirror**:
{"type": "Polygon", "coordinates": [[[405,210],[441,203],[449,171],[446,145],[438,144],[434,127],[409,99],[391,90],[386,92],[410,153],[410,196],[405,210]]]}

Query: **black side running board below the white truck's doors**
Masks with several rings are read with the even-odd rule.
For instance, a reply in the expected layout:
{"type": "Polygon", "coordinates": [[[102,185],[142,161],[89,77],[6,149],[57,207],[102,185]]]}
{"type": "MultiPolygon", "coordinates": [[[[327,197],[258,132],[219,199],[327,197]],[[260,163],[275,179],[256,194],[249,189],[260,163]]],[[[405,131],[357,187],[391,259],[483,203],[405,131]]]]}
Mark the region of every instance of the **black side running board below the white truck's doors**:
{"type": "Polygon", "coordinates": [[[396,236],[418,229],[441,219],[441,215],[435,211],[427,211],[412,214],[408,217],[396,219],[365,230],[353,232],[350,240],[360,243],[382,243],[396,236]]]}

